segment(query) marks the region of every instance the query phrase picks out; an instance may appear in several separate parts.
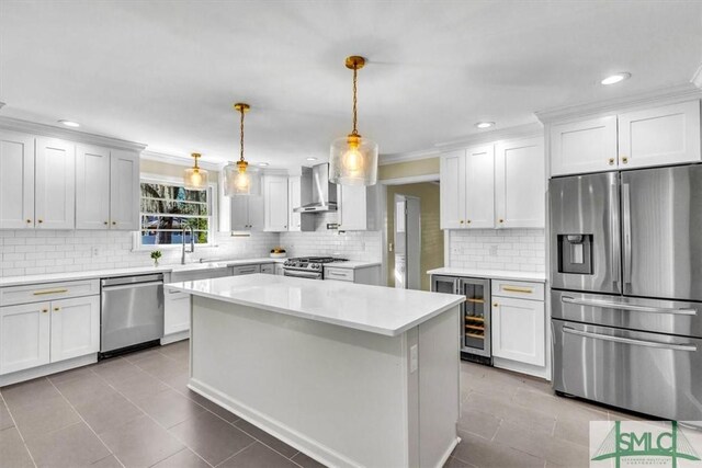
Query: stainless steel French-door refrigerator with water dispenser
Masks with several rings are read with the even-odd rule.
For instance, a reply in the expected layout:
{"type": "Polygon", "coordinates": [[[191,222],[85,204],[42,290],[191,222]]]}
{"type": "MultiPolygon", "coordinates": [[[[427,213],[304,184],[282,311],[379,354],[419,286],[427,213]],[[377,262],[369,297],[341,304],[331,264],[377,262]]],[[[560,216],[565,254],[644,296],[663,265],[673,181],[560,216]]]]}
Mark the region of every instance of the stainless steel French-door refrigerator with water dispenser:
{"type": "Polygon", "coordinates": [[[556,391],[702,421],[702,165],[550,181],[556,391]]]}

